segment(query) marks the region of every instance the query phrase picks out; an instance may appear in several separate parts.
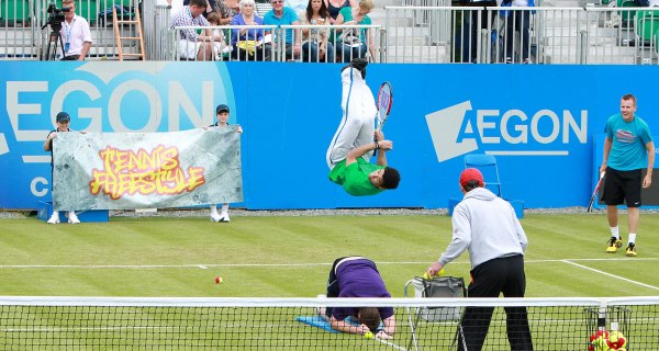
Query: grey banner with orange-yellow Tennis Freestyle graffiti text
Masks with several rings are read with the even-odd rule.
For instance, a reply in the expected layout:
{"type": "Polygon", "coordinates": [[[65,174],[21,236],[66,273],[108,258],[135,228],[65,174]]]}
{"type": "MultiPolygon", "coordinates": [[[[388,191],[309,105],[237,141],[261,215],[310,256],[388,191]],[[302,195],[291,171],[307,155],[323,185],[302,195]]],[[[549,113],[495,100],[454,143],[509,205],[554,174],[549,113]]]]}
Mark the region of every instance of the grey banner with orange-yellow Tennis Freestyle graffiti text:
{"type": "Polygon", "coordinates": [[[236,125],[169,133],[59,133],[56,211],[165,208],[243,201],[236,125]]]}

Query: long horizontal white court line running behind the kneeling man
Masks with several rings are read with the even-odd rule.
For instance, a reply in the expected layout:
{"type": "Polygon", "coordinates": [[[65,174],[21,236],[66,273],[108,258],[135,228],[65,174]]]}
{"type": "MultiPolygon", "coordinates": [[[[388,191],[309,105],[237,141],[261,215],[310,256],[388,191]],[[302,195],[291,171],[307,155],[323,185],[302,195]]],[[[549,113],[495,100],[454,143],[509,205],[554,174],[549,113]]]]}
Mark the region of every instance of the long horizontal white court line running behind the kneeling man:
{"type": "MultiPolygon", "coordinates": [[[[526,260],[524,263],[563,263],[563,262],[596,262],[596,261],[658,261],[659,258],[610,258],[610,259],[549,259],[549,260],[526,260]]],[[[376,262],[377,264],[429,264],[429,261],[400,261],[400,262],[376,262]]],[[[469,262],[451,262],[450,264],[470,264],[469,262]]],[[[156,268],[179,268],[179,269],[211,269],[211,268],[234,268],[234,267],[323,267],[332,265],[326,262],[312,263],[193,263],[193,264],[2,264],[0,269],[32,269],[32,268],[69,268],[69,269],[156,269],[156,268]]]]}

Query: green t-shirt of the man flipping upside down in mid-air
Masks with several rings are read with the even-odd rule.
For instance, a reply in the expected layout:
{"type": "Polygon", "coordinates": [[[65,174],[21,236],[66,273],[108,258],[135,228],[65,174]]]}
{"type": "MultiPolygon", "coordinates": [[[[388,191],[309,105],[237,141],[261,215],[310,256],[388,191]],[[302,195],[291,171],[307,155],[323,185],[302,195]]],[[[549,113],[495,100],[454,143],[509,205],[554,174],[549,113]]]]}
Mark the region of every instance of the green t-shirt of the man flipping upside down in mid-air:
{"type": "Polygon", "coordinates": [[[372,165],[362,157],[357,158],[357,162],[346,167],[346,160],[336,163],[330,172],[330,180],[343,185],[345,191],[354,196],[375,195],[383,191],[377,188],[368,179],[368,174],[384,166],[372,165]]]}

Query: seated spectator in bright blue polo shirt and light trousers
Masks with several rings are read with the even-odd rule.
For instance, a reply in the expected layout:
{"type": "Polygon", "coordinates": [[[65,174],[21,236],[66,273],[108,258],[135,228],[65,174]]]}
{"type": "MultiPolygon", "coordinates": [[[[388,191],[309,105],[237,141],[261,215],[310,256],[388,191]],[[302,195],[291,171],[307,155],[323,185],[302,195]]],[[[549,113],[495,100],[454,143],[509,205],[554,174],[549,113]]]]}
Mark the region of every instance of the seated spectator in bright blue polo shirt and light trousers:
{"type": "MultiPolygon", "coordinates": [[[[264,24],[265,25],[297,25],[300,24],[300,19],[298,19],[298,14],[293,9],[283,5],[283,0],[270,0],[272,4],[272,10],[268,11],[266,15],[264,15],[264,24]]],[[[302,35],[300,30],[286,30],[286,38],[284,38],[284,49],[286,49],[286,59],[292,60],[295,57],[300,56],[300,46],[302,43],[302,35]],[[294,33],[294,34],[293,34],[294,33]]],[[[278,57],[280,57],[281,52],[279,45],[279,39],[275,35],[272,35],[272,46],[276,53],[279,53],[278,57]]]]}

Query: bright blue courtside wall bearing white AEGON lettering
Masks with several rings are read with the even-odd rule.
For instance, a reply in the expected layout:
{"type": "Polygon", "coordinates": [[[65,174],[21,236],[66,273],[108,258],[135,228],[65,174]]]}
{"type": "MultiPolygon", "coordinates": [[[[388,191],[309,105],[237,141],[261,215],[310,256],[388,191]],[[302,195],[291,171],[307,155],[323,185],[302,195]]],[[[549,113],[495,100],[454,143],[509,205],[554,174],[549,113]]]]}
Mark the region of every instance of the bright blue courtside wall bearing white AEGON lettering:
{"type": "Polygon", "coordinates": [[[0,63],[0,208],[51,199],[43,141],[62,110],[77,131],[166,132],[209,125],[227,103],[230,123],[245,129],[239,205],[252,210],[446,207],[460,195],[469,152],[495,155],[504,197],[526,208],[584,206],[601,162],[594,136],[623,94],[638,98],[637,114],[659,134],[655,67],[371,65],[373,93],[384,80],[393,86],[384,132],[402,182],[354,197],[327,180],[325,163],[340,121],[342,66],[0,63]]]}

